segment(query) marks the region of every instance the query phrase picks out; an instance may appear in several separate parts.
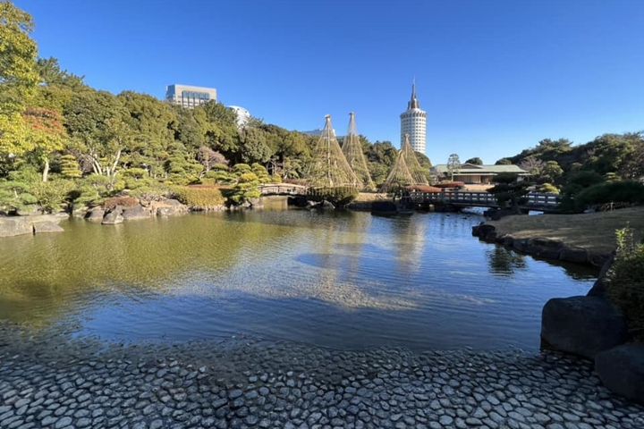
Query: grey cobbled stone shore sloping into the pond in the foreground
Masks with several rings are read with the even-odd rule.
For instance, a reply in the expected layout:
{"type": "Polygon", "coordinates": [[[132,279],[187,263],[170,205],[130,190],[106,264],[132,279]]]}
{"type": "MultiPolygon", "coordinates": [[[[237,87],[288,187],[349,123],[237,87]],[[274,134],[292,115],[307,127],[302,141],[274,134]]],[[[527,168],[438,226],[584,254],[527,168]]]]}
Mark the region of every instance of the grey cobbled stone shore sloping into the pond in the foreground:
{"type": "Polygon", "coordinates": [[[640,429],[557,353],[343,351],[238,338],[105,347],[4,327],[3,428],[640,429]]]}

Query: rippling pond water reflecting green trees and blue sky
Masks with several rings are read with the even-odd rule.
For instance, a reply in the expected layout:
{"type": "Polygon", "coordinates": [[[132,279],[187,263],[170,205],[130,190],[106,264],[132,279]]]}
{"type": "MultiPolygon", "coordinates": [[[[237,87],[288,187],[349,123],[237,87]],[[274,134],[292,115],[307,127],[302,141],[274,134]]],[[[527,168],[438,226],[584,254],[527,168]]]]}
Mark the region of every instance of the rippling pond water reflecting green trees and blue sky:
{"type": "Polygon", "coordinates": [[[0,240],[0,318],[106,341],[537,350],[547,299],[597,271],[471,236],[479,214],[189,214],[0,240]]]}

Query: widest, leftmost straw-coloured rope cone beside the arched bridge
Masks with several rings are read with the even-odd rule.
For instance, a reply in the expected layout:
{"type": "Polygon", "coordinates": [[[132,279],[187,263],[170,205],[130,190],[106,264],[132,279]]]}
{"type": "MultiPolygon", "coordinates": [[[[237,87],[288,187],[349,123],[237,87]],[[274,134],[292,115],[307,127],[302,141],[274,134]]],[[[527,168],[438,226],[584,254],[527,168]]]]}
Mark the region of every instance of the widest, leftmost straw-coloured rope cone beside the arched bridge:
{"type": "Polygon", "coordinates": [[[355,187],[359,183],[358,177],[347,163],[342,148],[335,139],[335,132],[331,126],[331,115],[327,114],[324,130],[314,147],[306,181],[312,188],[333,188],[338,186],[355,187]]]}

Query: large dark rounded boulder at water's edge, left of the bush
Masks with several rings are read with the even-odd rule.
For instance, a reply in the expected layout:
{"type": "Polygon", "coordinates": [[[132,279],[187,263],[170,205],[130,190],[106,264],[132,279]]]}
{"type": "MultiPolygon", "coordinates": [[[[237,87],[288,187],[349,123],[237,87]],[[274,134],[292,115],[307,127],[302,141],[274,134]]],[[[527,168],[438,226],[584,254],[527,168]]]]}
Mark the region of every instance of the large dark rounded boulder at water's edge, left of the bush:
{"type": "Polygon", "coordinates": [[[627,338],[623,315],[603,297],[555,298],[543,307],[544,348],[593,359],[597,353],[619,346],[627,338]]]}

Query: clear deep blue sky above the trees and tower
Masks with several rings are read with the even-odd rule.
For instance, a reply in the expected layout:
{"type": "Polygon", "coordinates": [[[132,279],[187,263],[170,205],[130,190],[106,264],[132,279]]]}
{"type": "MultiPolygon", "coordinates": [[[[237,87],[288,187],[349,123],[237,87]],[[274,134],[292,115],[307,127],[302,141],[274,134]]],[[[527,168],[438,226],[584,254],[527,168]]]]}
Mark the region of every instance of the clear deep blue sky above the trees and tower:
{"type": "Polygon", "coordinates": [[[400,145],[416,77],[427,153],[494,164],[540,139],[644,130],[644,0],[15,0],[39,55],[93,88],[214,87],[288,130],[400,145]]]}

